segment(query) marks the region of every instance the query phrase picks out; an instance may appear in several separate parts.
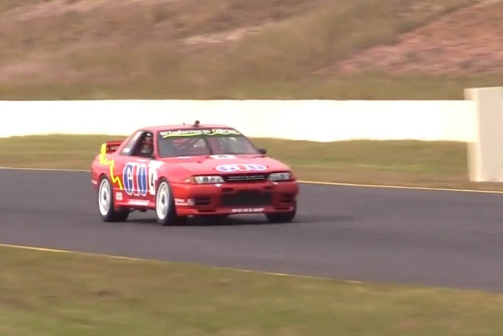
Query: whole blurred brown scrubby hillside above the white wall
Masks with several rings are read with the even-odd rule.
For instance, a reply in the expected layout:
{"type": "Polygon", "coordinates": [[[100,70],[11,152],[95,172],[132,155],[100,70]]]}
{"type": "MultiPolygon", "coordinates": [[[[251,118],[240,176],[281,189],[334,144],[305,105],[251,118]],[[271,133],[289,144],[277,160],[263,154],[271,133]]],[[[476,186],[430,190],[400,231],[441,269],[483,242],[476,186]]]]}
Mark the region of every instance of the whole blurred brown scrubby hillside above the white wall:
{"type": "Polygon", "coordinates": [[[482,0],[2,0],[0,98],[459,98],[464,86],[502,78],[502,9],[482,0]]]}

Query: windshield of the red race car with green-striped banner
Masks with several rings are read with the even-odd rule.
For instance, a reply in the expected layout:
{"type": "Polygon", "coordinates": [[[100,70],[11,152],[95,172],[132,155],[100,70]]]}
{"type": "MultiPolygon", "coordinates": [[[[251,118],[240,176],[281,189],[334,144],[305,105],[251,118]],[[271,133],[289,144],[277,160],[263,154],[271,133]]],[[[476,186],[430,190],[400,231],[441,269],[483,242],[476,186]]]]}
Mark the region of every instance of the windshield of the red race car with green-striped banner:
{"type": "Polygon", "coordinates": [[[158,133],[159,156],[258,154],[253,144],[231,128],[178,129],[158,133]]]}

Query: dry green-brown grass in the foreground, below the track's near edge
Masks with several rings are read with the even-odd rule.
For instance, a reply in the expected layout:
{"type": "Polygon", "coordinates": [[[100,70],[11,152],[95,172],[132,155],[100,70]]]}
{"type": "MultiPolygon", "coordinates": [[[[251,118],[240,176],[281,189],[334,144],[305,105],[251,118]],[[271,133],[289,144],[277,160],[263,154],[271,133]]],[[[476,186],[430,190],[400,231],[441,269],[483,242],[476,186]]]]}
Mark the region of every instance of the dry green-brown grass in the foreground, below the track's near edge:
{"type": "Polygon", "coordinates": [[[0,247],[2,336],[500,335],[503,296],[0,247]]]}

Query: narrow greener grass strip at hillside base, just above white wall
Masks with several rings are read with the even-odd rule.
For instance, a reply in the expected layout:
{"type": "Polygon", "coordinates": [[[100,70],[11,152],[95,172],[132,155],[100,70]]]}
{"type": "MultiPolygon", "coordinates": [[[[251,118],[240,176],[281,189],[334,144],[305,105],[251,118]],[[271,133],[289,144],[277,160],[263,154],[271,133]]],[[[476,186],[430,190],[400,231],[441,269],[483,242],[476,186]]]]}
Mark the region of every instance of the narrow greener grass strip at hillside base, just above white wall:
{"type": "Polygon", "coordinates": [[[141,79],[123,83],[0,83],[0,99],[354,99],[464,100],[464,89],[501,86],[503,76],[388,76],[364,74],[296,81],[187,84],[176,79],[141,79]]]}

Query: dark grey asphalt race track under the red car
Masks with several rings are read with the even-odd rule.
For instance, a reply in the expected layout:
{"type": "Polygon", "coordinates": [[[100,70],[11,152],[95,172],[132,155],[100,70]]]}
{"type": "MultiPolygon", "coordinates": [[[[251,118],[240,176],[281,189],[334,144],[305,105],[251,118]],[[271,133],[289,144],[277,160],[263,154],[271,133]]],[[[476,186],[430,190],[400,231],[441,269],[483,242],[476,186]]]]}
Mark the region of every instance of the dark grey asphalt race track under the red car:
{"type": "Polygon", "coordinates": [[[98,217],[84,172],[0,170],[0,243],[346,280],[503,290],[503,195],[301,185],[294,223],[98,217]]]}

